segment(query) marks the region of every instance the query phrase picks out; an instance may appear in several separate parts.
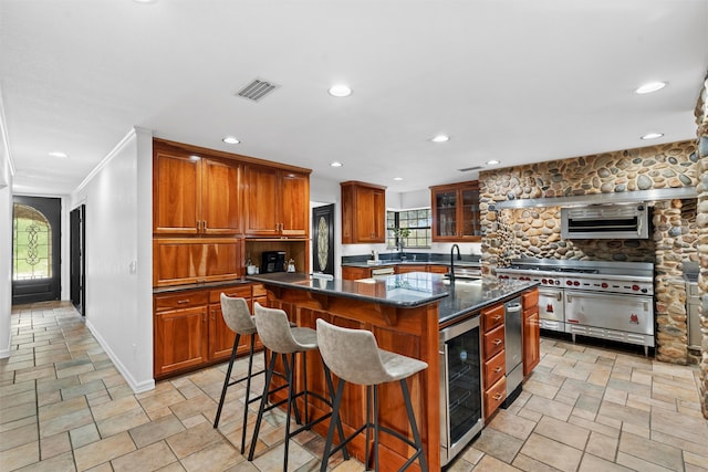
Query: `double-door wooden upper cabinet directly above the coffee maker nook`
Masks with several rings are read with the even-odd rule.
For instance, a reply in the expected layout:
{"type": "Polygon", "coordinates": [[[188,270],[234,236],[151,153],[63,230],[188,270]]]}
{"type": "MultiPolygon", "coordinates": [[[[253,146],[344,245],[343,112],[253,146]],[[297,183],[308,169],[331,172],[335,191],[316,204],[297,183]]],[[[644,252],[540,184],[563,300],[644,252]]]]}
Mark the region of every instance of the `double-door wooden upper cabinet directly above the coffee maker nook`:
{"type": "Polygon", "coordinates": [[[310,234],[310,176],[246,165],[244,227],[249,237],[306,238],[310,234]]]}

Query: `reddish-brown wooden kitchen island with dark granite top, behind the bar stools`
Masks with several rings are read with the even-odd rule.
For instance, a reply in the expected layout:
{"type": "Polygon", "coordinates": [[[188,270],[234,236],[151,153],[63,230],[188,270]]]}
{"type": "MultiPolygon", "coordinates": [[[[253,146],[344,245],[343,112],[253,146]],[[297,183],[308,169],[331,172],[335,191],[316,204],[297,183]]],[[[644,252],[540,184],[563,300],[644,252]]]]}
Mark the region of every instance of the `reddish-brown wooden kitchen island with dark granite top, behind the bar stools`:
{"type": "MultiPolygon", "coordinates": [[[[440,410],[445,391],[441,387],[441,378],[445,378],[441,377],[441,369],[445,366],[441,365],[439,354],[440,329],[480,314],[483,319],[485,313],[498,314],[499,307],[502,314],[500,326],[503,326],[503,303],[521,294],[538,292],[533,282],[450,282],[442,275],[426,272],[361,281],[315,279],[306,274],[292,273],[261,274],[248,279],[263,284],[269,306],[285,311],[290,319],[299,326],[314,328],[316,319],[323,318],[339,326],[368,329],[374,333],[382,349],[415,357],[428,364],[426,370],[408,381],[430,470],[439,470],[441,466],[440,410]]],[[[503,327],[501,333],[503,348],[503,327]]],[[[496,346],[499,350],[499,339],[496,346]]],[[[503,353],[501,358],[503,359],[503,353]]],[[[308,388],[327,395],[321,358],[309,356],[306,361],[308,388]]],[[[481,368],[479,375],[482,375],[481,368]]],[[[502,385],[501,380],[494,385],[502,385]]],[[[296,379],[300,384],[296,386],[299,389],[303,388],[302,381],[301,377],[296,379]]],[[[364,394],[362,386],[347,384],[345,387],[342,422],[347,436],[365,422],[364,394]]],[[[327,411],[327,407],[315,399],[311,400],[311,407],[312,415],[327,411]]],[[[489,412],[485,416],[489,417],[487,413],[489,412]]],[[[379,418],[383,424],[410,437],[398,386],[382,387],[379,418]]],[[[327,422],[321,423],[317,432],[325,434],[326,426],[327,422]]],[[[364,459],[365,448],[371,448],[371,444],[365,444],[363,434],[348,445],[350,452],[360,460],[364,459]]],[[[410,455],[410,451],[406,444],[384,434],[381,439],[379,454],[381,463],[385,464],[382,470],[398,470],[410,455]]],[[[414,464],[415,468],[417,464],[414,464]]]]}

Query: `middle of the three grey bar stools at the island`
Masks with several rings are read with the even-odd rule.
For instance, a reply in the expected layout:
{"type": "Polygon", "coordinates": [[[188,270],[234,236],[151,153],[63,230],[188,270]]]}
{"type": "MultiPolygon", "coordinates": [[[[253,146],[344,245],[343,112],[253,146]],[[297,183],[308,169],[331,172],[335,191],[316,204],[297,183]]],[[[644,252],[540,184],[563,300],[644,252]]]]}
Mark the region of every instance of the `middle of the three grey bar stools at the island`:
{"type": "MultiPolygon", "coordinates": [[[[327,390],[330,390],[330,398],[326,399],[320,396],[316,392],[308,391],[308,368],[306,368],[306,353],[311,350],[317,350],[317,335],[314,329],[306,327],[294,327],[291,328],[288,322],[288,315],[282,310],[274,308],[266,308],[261,306],[258,302],[253,305],[254,318],[256,318],[256,327],[258,328],[258,336],[261,338],[261,343],[266,346],[271,353],[270,364],[268,369],[266,370],[266,385],[263,386],[263,395],[261,397],[261,405],[258,410],[258,419],[256,420],[256,430],[253,431],[253,439],[251,441],[251,449],[248,454],[248,460],[253,460],[253,454],[256,452],[256,442],[258,440],[258,433],[261,427],[261,420],[263,418],[263,412],[270,410],[274,407],[274,405],[266,408],[266,402],[268,400],[267,392],[270,389],[270,382],[273,377],[273,370],[275,367],[277,354],[281,354],[283,358],[283,363],[285,364],[285,373],[288,375],[288,412],[285,418],[285,452],[283,457],[283,471],[288,470],[288,450],[290,444],[290,438],[293,436],[312,428],[312,426],[323,421],[332,416],[332,412],[326,412],[322,415],[320,418],[316,418],[302,427],[298,428],[295,431],[290,431],[290,415],[291,409],[295,405],[295,400],[304,396],[304,418],[308,421],[308,402],[309,397],[313,396],[323,402],[332,406],[332,397],[334,395],[334,387],[332,386],[332,377],[330,375],[330,369],[326,364],[324,366],[324,378],[327,384],[327,390]],[[293,385],[293,373],[295,369],[295,354],[302,354],[302,373],[303,373],[303,385],[304,389],[302,391],[295,392],[293,385]]],[[[336,420],[336,428],[339,430],[340,439],[344,439],[344,430],[342,429],[342,423],[340,420],[336,420]]],[[[332,428],[334,429],[335,422],[332,423],[332,428]]],[[[334,436],[334,433],[332,433],[334,436]]],[[[345,460],[350,459],[348,452],[346,449],[343,450],[343,455],[345,460]]]]}

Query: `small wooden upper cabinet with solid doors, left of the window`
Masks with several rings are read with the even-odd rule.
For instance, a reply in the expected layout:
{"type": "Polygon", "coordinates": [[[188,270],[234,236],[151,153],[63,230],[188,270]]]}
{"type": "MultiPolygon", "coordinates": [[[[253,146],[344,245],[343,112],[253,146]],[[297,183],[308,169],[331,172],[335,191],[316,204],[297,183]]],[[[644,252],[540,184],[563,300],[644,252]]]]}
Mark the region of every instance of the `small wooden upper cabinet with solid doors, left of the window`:
{"type": "Polygon", "coordinates": [[[386,187],[342,182],[342,243],[386,242],[386,187]]]}

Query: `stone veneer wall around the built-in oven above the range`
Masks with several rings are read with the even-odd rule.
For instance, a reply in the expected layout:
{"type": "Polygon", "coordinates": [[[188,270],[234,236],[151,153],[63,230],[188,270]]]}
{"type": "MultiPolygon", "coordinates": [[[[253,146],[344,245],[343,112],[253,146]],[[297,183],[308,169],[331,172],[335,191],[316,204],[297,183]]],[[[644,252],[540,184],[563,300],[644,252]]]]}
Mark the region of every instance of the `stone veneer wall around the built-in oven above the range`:
{"type": "MultiPolygon", "coordinates": [[[[480,172],[482,272],[493,276],[497,266],[519,256],[654,262],[656,357],[686,364],[690,357],[681,262],[695,260],[696,228],[686,225],[691,219],[690,209],[696,207],[694,202],[656,202],[654,235],[648,240],[563,240],[559,207],[496,211],[494,203],[693,187],[698,185],[698,160],[696,143],[681,141],[480,172]]],[[[708,212],[708,189],[706,200],[708,212]]],[[[708,258],[706,263],[708,269],[708,258]]]]}

